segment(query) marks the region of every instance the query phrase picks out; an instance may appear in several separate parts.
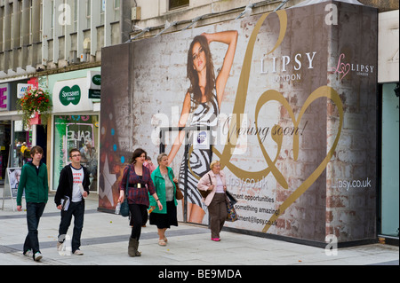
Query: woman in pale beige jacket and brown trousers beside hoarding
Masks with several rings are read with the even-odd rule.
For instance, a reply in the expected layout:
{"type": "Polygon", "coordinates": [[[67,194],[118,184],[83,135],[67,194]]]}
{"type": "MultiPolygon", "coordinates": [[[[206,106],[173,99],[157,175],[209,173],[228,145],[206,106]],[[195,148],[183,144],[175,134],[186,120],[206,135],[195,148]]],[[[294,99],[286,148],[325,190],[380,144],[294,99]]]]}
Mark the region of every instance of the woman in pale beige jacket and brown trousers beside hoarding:
{"type": "Polygon", "coordinates": [[[200,191],[210,191],[204,203],[208,207],[210,214],[212,240],[220,241],[220,231],[227,219],[227,181],[225,173],[220,170],[220,161],[212,161],[210,169],[198,181],[197,189],[200,191]]]}

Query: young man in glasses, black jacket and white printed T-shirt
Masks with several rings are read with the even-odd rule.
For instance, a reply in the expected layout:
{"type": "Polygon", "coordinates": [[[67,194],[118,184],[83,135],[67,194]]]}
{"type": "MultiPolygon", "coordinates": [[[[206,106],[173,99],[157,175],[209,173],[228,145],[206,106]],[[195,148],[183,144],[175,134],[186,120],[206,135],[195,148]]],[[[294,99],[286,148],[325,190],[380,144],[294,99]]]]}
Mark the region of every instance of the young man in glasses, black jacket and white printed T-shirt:
{"type": "Polygon", "coordinates": [[[79,249],[81,246],[81,234],[84,228],[84,198],[89,195],[89,171],[81,165],[81,153],[79,149],[73,148],[69,151],[71,163],[65,166],[60,172],[59,186],[54,197],[54,202],[61,210],[61,222],[59,228],[59,241],[57,248],[60,248],[65,235],[74,216],[74,233],[72,235],[72,253],[84,255],[79,249]],[[62,200],[62,201],[61,201],[62,200]],[[61,202],[63,202],[61,204],[61,202]]]}

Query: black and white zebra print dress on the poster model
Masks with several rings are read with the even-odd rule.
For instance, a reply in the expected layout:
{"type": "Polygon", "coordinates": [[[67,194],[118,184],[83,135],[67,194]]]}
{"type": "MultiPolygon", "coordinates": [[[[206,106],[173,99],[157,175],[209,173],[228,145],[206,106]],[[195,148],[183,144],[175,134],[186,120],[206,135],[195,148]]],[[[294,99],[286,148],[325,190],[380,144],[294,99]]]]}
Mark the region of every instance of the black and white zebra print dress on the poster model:
{"type": "MultiPolygon", "coordinates": [[[[210,126],[211,127],[211,143],[214,145],[217,136],[218,116],[220,109],[218,107],[217,96],[215,93],[212,95],[212,100],[200,104],[196,104],[193,99],[191,101],[191,114],[189,117],[189,126],[210,126]]],[[[191,141],[193,140],[194,132],[189,133],[189,151],[192,149],[191,141]]],[[[206,212],[207,207],[202,201],[202,196],[197,190],[198,180],[204,176],[210,170],[210,162],[212,161],[212,151],[210,148],[197,149],[193,148],[190,156],[188,157],[188,164],[185,163],[185,159],[180,164],[180,187],[186,188],[182,190],[182,193],[188,192],[188,202],[198,205],[206,212]],[[188,184],[185,184],[185,167],[188,167],[188,184]]]]}

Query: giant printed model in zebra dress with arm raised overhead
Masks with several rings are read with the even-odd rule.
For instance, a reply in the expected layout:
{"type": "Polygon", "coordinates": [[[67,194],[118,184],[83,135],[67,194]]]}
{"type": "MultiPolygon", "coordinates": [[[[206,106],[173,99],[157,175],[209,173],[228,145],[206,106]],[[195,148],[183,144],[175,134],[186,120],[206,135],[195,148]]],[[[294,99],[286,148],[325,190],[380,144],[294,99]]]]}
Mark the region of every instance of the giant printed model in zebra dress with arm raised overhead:
{"type": "MultiPolygon", "coordinates": [[[[183,101],[179,127],[210,126],[212,138],[216,137],[220,104],[228,82],[228,76],[236,52],[237,31],[223,31],[214,34],[197,35],[188,50],[187,73],[190,87],[183,101]],[[219,42],[228,44],[220,73],[215,78],[212,63],[210,43],[219,42]]],[[[193,134],[193,133],[191,133],[193,134]]],[[[180,131],[177,140],[172,145],[168,155],[170,165],[184,139],[184,131],[180,131]]],[[[213,144],[213,143],[212,143],[213,144]]],[[[185,184],[185,167],[182,161],[180,166],[180,185],[188,192],[188,222],[202,223],[205,215],[205,206],[196,185],[200,177],[209,171],[212,153],[209,149],[194,149],[189,156],[188,184],[185,184]]],[[[185,190],[182,190],[185,192],[185,190]]]]}

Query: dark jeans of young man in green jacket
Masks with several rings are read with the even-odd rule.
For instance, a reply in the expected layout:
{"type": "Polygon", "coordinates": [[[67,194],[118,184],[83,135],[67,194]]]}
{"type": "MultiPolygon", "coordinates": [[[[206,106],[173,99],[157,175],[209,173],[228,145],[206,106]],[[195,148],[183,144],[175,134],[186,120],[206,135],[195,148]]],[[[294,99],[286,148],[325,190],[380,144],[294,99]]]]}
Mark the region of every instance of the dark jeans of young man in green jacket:
{"type": "Polygon", "coordinates": [[[43,215],[45,202],[28,202],[27,203],[27,223],[28,235],[24,243],[24,254],[30,249],[35,255],[40,252],[37,227],[39,226],[40,217],[43,215]]]}

